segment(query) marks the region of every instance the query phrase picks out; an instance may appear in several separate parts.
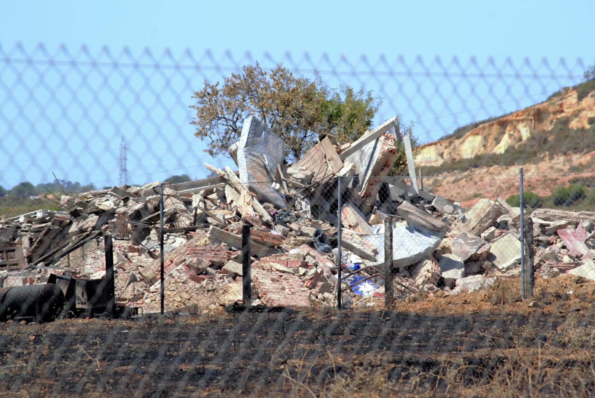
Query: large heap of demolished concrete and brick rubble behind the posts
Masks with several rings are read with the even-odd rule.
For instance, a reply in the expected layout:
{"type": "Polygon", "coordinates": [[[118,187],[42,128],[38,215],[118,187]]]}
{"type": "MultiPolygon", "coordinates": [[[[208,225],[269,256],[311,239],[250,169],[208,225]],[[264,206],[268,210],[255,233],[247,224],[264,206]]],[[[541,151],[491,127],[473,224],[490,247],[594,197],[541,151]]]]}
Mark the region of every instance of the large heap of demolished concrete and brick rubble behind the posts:
{"type": "MultiPolygon", "coordinates": [[[[339,288],[343,306],[382,302],[387,217],[394,290],[401,299],[468,292],[518,276],[520,209],[480,199],[467,210],[433,195],[431,187],[386,177],[397,137],[403,139],[395,121],[350,144],[326,136],[288,165],[283,140],[250,117],[230,148],[238,171],[205,164],[215,177],[166,185],[165,310],[208,311],[242,302],[245,224],[252,226],[252,297],[268,306],[335,306],[339,288]],[[341,192],[336,177],[342,177],[341,192]]],[[[111,234],[118,301],[159,311],[160,196],[159,182],[112,187],[64,195],[59,211],[0,218],[2,286],[45,283],[51,273],[104,278],[101,237],[111,234]],[[82,261],[69,266],[65,258],[72,253],[82,261]]],[[[531,220],[541,277],[566,272],[595,280],[595,213],[538,209],[531,220]]]]}

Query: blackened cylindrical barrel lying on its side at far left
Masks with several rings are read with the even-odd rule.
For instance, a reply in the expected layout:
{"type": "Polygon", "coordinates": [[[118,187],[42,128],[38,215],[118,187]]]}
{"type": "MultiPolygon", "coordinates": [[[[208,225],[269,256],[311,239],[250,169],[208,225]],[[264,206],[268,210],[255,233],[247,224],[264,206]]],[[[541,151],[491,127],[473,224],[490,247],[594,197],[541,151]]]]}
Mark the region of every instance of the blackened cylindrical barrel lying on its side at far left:
{"type": "Polygon", "coordinates": [[[0,289],[0,319],[33,316],[53,321],[64,309],[64,293],[53,283],[0,289]]]}

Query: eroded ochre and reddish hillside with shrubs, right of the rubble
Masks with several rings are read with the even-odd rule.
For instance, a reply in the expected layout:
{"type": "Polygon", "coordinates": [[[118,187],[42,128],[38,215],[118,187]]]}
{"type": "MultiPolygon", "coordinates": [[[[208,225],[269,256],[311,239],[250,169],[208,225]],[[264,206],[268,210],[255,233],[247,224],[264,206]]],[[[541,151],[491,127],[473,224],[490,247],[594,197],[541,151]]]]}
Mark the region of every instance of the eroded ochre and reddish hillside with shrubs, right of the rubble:
{"type": "Polygon", "coordinates": [[[462,195],[468,204],[490,197],[496,189],[504,198],[518,193],[521,166],[525,189],[539,195],[568,186],[577,175],[593,177],[595,183],[595,80],[422,145],[415,162],[425,176],[441,176],[426,180],[434,192],[462,195]]]}

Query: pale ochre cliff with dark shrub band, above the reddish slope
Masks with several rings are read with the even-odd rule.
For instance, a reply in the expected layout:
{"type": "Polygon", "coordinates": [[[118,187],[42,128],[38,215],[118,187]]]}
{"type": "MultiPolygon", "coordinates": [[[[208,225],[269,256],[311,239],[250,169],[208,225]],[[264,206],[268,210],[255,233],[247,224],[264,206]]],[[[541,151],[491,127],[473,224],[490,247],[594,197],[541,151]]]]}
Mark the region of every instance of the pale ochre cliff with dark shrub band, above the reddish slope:
{"type": "MultiPolygon", "coordinates": [[[[482,155],[490,155],[493,165],[505,165],[505,155],[521,157],[514,164],[534,161],[535,156],[551,158],[570,152],[593,151],[595,140],[595,81],[561,90],[547,101],[504,115],[496,120],[458,129],[450,136],[418,148],[416,163],[422,167],[444,167],[482,155]],[[561,146],[559,144],[562,144],[561,146]],[[590,148],[589,148],[590,146],[590,148]],[[519,149],[519,151],[515,151],[519,149]]],[[[509,156],[506,156],[509,157],[509,156]]],[[[469,164],[489,166],[490,162],[469,164]]],[[[457,167],[459,170],[461,167],[457,167]]]]}

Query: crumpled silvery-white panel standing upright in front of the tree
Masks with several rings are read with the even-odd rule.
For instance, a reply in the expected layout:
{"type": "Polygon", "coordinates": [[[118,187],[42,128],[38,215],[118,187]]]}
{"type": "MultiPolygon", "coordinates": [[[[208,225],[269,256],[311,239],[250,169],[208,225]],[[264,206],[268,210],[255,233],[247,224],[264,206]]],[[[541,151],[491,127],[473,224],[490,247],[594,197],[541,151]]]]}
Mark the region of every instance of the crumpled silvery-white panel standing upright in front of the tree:
{"type": "Polygon", "coordinates": [[[244,120],[237,149],[240,181],[248,183],[275,206],[286,209],[283,196],[271,185],[275,168],[283,163],[285,143],[255,116],[244,120]]]}

